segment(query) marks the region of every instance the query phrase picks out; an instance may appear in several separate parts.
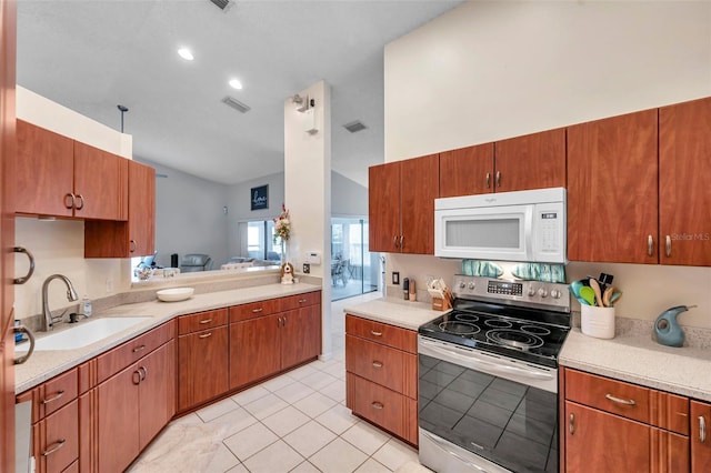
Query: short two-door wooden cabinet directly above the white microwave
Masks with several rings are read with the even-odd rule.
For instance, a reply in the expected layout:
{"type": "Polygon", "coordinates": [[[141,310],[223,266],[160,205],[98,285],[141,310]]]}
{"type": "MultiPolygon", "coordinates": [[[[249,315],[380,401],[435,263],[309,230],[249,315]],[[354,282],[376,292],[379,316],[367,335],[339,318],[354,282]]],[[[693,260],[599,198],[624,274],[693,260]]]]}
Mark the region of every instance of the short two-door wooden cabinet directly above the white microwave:
{"type": "Polygon", "coordinates": [[[440,153],[440,197],[562,187],[562,128],[440,153]]]}

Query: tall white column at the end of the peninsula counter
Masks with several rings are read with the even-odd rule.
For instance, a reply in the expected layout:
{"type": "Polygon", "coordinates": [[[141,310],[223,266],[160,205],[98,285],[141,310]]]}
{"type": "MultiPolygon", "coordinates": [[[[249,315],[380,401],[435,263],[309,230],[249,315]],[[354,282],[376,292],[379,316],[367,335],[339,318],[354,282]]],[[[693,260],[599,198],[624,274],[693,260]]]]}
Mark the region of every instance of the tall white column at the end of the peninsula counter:
{"type": "Polygon", "coordinates": [[[298,92],[316,100],[318,132],[304,131],[307,114],[284,100],[284,201],[291,215],[289,261],[301,272],[307,252],[321,253],[311,274],[322,278],[322,356],[331,356],[331,89],[324,81],[298,92]]]}

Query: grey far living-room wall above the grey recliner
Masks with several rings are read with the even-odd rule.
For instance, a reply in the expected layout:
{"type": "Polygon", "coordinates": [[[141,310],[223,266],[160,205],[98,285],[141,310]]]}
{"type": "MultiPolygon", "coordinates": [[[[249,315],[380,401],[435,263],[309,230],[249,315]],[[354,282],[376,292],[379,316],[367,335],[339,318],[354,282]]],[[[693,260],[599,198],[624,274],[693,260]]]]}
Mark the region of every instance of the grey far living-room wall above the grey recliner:
{"type": "MultiPolygon", "coordinates": [[[[170,255],[203,253],[212,269],[229,259],[229,188],[137,157],[156,168],[156,250],[158,264],[170,265],[170,255]]],[[[180,260],[179,260],[180,262],[180,260]]]]}

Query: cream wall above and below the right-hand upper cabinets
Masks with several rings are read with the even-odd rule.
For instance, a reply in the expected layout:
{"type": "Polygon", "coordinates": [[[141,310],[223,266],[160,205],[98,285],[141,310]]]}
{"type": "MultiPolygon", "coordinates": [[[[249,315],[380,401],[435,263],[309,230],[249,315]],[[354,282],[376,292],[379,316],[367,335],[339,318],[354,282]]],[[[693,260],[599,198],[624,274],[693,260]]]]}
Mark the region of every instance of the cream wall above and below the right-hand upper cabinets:
{"type": "MultiPolygon", "coordinates": [[[[471,1],[388,44],[384,62],[389,162],[711,95],[711,3],[471,1]]],[[[457,268],[390,254],[385,279],[457,268]]],[[[698,304],[680,322],[711,328],[711,269],[571,263],[568,279],[602,271],[624,292],[619,315],[698,304]]]]}

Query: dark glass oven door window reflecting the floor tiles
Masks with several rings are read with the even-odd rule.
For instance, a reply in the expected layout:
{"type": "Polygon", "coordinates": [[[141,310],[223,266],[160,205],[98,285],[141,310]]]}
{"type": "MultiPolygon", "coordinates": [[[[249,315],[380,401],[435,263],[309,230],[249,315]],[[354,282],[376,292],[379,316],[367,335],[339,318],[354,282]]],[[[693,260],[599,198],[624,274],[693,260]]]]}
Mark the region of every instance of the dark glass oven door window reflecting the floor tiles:
{"type": "Polygon", "coordinates": [[[558,395],[419,355],[420,427],[515,472],[558,471],[558,395]]]}

